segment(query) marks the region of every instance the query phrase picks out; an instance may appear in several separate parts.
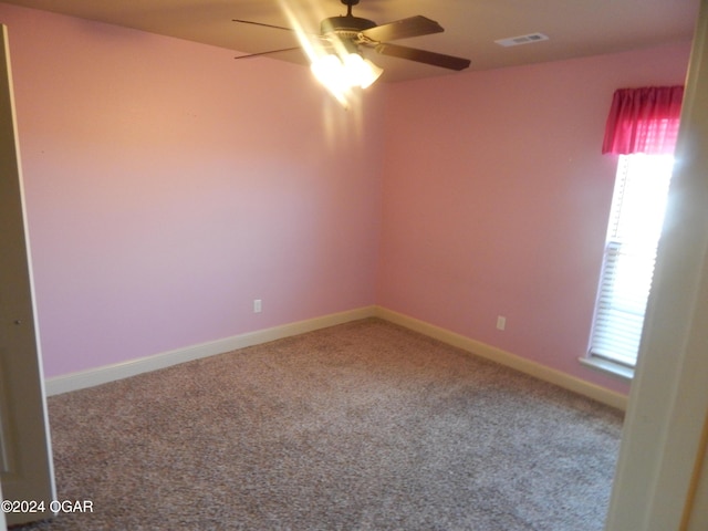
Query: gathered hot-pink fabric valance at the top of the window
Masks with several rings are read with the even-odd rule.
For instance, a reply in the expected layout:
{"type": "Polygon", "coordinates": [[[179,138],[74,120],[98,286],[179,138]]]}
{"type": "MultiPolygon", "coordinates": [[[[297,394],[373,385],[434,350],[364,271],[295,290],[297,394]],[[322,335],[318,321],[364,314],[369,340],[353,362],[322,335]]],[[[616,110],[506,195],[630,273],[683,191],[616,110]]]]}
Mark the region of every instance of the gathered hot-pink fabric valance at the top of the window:
{"type": "Polygon", "coordinates": [[[615,91],[602,153],[673,154],[684,98],[683,86],[615,91]]]}

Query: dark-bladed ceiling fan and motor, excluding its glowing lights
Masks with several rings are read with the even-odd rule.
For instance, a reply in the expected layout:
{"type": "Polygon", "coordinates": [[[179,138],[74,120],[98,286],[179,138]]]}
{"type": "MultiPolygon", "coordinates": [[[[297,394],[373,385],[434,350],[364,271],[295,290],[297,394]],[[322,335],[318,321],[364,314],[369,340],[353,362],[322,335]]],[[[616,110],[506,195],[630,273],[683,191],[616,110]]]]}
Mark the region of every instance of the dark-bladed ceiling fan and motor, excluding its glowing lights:
{"type": "MultiPolygon", "coordinates": [[[[416,48],[402,46],[392,44],[388,41],[398,39],[408,39],[412,37],[428,35],[445,31],[440,24],[426,17],[416,15],[407,19],[388,22],[378,25],[373,20],[354,17],[352,7],[358,4],[360,0],[341,0],[346,6],[346,14],[343,17],[330,17],[324,19],[320,24],[320,34],[310,35],[320,41],[324,49],[336,49],[337,46],[346,50],[347,53],[361,54],[361,49],[373,49],[382,55],[389,55],[418,63],[431,64],[449,70],[465,70],[469,66],[470,60],[446,55],[442,53],[430,52],[427,50],[418,50],[416,48]]],[[[248,20],[233,19],[233,22],[254,24],[266,28],[274,28],[280,30],[296,31],[292,28],[281,25],[266,24],[248,20]]],[[[283,50],[272,50],[269,52],[252,53],[241,55],[236,59],[252,58],[256,55],[266,55],[270,53],[296,50],[296,48],[288,48],[283,50]]]]}

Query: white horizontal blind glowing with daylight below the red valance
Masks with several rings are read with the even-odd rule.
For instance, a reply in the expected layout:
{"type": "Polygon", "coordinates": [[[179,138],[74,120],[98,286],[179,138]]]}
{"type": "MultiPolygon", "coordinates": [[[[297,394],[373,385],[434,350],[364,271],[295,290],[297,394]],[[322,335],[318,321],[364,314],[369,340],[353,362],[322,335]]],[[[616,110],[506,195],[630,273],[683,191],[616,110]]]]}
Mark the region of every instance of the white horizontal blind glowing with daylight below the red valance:
{"type": "Polygon", "coordinates": [[[668,155],[620,157],[591,357],[636,364],[673,163],[668,155]]]}

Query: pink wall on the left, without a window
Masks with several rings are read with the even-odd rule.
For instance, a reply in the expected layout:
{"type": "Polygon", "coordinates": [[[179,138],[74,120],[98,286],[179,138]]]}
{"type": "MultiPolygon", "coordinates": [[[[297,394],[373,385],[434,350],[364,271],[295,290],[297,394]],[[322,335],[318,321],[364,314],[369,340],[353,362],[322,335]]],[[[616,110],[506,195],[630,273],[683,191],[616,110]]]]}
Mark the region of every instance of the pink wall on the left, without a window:
{"type": "Polygon", "coordinates": [[[46,376],[375,302],[376,88],[345,112],[303,66],[2,3],[0,22],[46,376]]]}

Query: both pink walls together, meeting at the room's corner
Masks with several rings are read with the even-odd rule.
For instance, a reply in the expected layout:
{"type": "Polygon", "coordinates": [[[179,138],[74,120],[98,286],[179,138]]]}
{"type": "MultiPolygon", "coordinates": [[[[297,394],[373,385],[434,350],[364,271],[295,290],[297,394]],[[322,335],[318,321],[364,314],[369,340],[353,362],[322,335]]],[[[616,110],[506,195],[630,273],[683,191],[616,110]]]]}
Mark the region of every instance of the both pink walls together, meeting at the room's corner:
{"type": "Polygon", "coordinates": [[[577,363],[600,144],[614,90],[681,83],[689,43],[377,85],[344,112],[301,66],[2,3],[0,22],[46,376],[378,303],[627,391],[577,363]]]}

